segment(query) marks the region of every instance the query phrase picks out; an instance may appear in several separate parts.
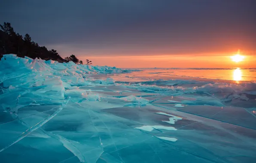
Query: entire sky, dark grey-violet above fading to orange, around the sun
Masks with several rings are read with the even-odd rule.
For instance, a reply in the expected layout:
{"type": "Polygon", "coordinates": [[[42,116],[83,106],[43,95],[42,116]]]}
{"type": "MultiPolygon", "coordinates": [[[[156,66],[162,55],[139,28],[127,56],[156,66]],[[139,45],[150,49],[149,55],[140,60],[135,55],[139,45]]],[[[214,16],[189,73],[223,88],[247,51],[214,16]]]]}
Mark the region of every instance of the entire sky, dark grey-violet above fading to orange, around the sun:
{"type": "Polygon", "coordinates": [[[256,67],[256,0],[1,0],[0,23],[117,67],[256,67]],[[238,49],[242,62],[232,62],[238,49]]]}

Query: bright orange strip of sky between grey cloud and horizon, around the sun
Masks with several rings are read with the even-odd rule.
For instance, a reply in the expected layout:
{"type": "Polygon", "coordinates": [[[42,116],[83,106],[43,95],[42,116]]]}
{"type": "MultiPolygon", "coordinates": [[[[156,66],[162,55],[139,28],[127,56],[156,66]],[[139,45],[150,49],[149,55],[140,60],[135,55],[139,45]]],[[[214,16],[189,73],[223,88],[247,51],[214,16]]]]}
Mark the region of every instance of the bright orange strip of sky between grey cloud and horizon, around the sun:
{"type": "Polygon", "coordinates": [[[254,52],[212,53],[212,54],[159,54],[159,55],[100,55],[77,56],[80,60],[89,59],[92,65],[116,66],[119,68],[256,68],[254,52]],[[235,55],[234,55],[235,54],[235,55]],[[231,57],[239,54],[236,61],[231,57]],[[241,60],[242,59],[242,60],[241,60]]]}

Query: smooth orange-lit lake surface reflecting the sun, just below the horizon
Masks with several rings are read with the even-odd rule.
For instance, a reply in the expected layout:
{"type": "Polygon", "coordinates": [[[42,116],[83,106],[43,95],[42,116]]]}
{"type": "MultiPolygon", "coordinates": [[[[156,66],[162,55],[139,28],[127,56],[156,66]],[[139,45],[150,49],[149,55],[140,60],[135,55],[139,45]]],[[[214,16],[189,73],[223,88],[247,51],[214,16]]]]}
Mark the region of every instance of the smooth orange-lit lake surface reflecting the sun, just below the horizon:
{"type": "Polygon", "coordinates": [[[142,79],[219,79],[236,82],[255,82],[256,69],[206,69],[206,68],[139,68],[140,72],[132,72],[130,77],[142,79]]]}

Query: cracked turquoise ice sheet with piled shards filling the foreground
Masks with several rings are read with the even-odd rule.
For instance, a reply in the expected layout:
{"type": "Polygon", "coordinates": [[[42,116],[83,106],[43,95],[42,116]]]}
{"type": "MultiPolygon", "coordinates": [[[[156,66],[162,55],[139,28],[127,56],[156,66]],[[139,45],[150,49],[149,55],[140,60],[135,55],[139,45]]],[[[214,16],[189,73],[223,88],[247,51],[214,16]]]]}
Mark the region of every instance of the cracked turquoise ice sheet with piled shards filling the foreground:
{"type": "Polygon", "coordinates": [[[0,69],[1,163],[256,160],[255,83],[149,79],[13,54],[0,69]]]}

